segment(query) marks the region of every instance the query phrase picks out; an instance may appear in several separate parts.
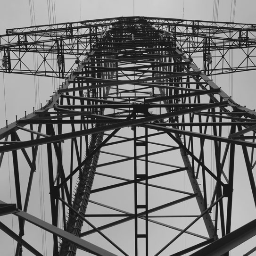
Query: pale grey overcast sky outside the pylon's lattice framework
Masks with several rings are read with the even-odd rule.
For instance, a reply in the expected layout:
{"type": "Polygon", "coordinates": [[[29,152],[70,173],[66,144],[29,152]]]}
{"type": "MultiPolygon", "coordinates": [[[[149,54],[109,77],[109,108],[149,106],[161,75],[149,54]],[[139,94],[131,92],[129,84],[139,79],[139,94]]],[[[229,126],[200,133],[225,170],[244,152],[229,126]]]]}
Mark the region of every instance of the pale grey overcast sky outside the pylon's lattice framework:
{"type": "MultiPolygon", "coordinates": [[[[45,25],[50,23],[74,22],[107,17],[148,16],[184,18],[196,20],[231,21],[234,3],[236,2],[234,21],[237,23],[256,24],[256,2],[253,0],[222,0],[218,4],[218,12],[213,14],[218,1],[216,0],[9,0],[1,1],[0,34],[5,30],[30,25],[45,25]],[[133,6],[134,3],[134,6],[133,6]],[[31,13],[31,7],[33,9],[31,13]],[[217,14],[217,16],[216,16],[217,14]]],[[[241,105],[256,108],[255,71],[234,74],[233,99],[241,105]]],[[[226,79],[217,77],[215,82],[228,93],[231,91],[226,79]]],[[[18,74],[0,73],[0,127],[24,116],[24,111],[32,112],[38,104],[35,101],[35,90],[39,90],[39,100],[44,105],[52,94],[54,84],[58,80],[39,78],[18,74]]],[[[231,93],[230,93],[231,94],[231,93]]],[[[245,188],[247,179],[240,180],[240,186],[245,188]]],[[[0,190],[0,193],[2,191],[0,190]]],[[[241,198],[247,198],[247,190],[239,191],[241,198]]],[[[239,219],[240,210],[245,207],[237,204],[237,226],[255,218],[255,209],[248,206],[247,218],[239,219]]],[[[3,233],[0,233],[0,237],[3,233]]],[[[3,240],[2,240],[3,241],[3,240]]],[[[0,239],[0,248],[3,242],[0,239]]],[[[9,252],[8,252],[9,253],[9,252]]],[[[12,255],[11,253],[7,255],[12,255]]]]}

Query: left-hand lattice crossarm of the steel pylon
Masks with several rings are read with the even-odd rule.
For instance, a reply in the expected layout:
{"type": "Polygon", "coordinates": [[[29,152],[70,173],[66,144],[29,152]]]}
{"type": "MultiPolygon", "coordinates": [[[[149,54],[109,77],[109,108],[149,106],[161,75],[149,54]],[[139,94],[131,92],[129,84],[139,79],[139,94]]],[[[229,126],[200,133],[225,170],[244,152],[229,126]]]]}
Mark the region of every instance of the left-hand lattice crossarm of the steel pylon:
{"type": "Polygon", "coordinates": [[[0,72],[67,78],[75,71],[75,60],[82,61],[116,21],[112,18],[8,29],[0,35],[0,72]]]}

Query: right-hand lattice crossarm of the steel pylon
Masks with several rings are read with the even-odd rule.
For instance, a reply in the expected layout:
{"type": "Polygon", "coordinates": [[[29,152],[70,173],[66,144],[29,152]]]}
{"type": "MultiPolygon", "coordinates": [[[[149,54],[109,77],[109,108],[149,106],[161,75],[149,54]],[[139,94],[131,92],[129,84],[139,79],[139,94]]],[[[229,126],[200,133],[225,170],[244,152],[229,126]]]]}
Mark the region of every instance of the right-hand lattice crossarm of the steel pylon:
{"type": "Polygon", "coordinates": [[[207,75],[256,69],[254,24],[150,17],[146,19],[163,36],[174,38],[187,57],[203,59],[203,63],[195,62],[207,75]]]}

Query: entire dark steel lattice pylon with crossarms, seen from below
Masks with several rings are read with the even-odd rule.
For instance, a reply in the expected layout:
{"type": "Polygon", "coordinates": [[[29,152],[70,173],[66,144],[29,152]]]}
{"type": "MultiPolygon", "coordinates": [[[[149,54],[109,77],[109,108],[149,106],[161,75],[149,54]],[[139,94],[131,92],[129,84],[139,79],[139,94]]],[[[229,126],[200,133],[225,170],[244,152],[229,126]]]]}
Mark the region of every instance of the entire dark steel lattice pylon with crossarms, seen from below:
{"type": "Polygon", "coordinates": [[[18,235],[0,229],[17,256],[42,255],[28,235],[38,227],[54,256],[228,256],[256,235],[256,221],[232,226],[237,149],[256,205],[256,112],[210,77],[256,69],[256,25],[117,17],[8,29],[0,42],[1,72],[65,78],[0,129],[16,191],[0,215],[17,218],[18,235]],[[50,220],[30,203],[39,149],[50,220]]]}

